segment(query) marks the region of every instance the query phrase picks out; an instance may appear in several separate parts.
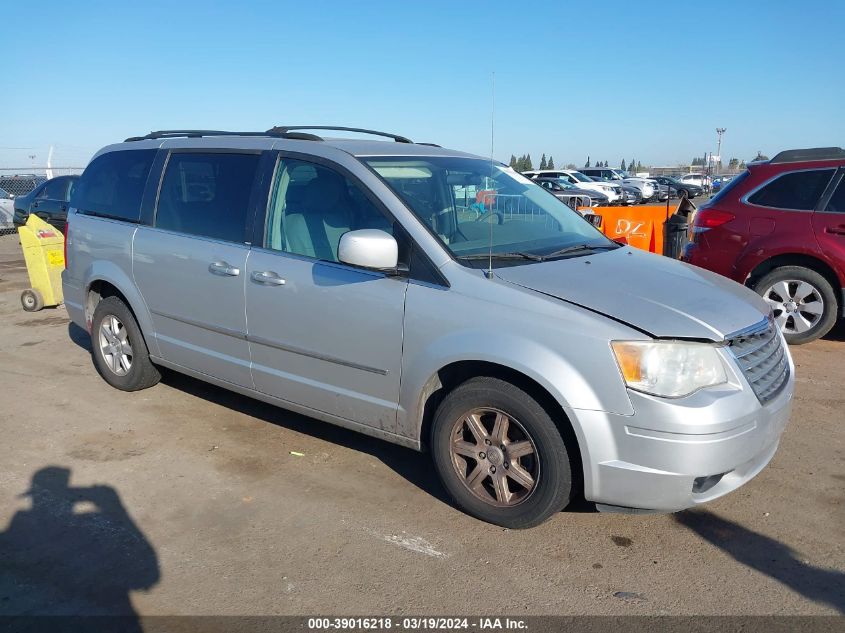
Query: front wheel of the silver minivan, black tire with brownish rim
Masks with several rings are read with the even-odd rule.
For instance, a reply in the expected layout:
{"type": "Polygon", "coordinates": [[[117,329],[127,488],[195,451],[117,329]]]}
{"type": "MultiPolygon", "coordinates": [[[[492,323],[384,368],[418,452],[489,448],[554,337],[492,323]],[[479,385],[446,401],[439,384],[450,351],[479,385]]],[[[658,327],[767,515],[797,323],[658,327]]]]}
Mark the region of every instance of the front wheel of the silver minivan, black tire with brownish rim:
{"type": "Polygon", "coordinates": [[[431,450],[455,503],[483,521],[532,527],[569,503],[563,438],[546,410],[510,383],[473,378],[447,395],[435,413],[431,450]]]}

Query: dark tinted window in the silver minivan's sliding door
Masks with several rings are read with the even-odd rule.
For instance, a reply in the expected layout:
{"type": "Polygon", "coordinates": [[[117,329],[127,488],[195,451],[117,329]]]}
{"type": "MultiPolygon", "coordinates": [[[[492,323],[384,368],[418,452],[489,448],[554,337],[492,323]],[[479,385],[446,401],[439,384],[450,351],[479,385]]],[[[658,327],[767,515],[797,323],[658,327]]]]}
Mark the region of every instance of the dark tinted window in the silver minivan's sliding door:
{"type": "Polygon", "coordinates": [[[258,154],[171,154],[159,192],[156,227],[226,242],[247,241],[258,160],[258,154]]]}

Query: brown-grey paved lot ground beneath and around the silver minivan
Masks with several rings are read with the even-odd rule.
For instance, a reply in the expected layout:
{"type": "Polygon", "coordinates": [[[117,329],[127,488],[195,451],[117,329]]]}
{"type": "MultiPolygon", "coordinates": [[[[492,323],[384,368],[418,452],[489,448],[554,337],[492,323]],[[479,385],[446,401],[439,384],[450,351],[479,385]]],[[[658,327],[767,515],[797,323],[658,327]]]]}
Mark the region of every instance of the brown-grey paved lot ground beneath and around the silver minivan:
{"type": "Polygon", "coordinates": [[[110,388],[27,285],[0,237],[0,614],[845,613],[842,327],[793,349],[792,421],[744,488],[507,531],[426,455],[175,374],[110,388]]]}

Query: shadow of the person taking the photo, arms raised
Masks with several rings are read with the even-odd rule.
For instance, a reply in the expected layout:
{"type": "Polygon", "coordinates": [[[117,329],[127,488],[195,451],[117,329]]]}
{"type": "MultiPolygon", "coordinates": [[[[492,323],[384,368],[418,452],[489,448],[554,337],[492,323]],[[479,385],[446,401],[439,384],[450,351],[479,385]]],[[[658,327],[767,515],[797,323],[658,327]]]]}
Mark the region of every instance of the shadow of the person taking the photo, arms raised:
{"type": "Polygon", "coordinates": [[[156,552],[114,488],[71,487],[70,473],[38,470],[19,495],[30,509],[0,533],[0,616],[122,616],[115,630],[141,631],[129,592],[159,581],[156,552]]]}

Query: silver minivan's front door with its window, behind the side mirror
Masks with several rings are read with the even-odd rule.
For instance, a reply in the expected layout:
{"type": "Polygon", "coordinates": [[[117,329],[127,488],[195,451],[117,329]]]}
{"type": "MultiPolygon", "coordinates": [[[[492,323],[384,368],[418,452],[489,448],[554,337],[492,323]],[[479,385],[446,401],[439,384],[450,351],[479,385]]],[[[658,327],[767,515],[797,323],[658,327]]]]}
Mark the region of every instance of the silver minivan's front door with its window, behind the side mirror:
{"type": "Polygon", "coordinates": [[[338,168],[281,158],[264,248],[247,263],[252,375],[263,393],[380,429],[396,420],[407,281],[338,262],[343,233],[392,231],[338,168]]]}

